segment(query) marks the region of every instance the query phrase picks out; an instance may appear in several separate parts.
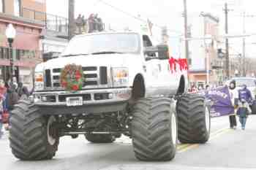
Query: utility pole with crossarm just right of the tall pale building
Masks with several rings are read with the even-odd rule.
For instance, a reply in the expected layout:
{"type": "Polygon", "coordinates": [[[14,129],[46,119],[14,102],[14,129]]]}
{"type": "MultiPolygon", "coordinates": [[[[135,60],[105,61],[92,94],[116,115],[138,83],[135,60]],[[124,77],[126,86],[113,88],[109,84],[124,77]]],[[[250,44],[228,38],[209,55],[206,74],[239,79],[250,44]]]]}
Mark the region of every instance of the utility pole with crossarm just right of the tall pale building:
{"type": "MultiPolygon", "coordinates": [[[[228,34],[228,9],[227,9],[227,2],[225,3],[225,33],[228,34]]],[[[230,57],[229,57],[229,45],[228,39],[226,39],[226,77],[229,79],[230,77],[230,57]]]]}

